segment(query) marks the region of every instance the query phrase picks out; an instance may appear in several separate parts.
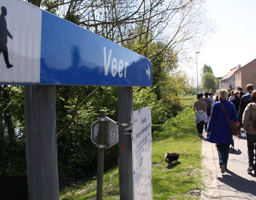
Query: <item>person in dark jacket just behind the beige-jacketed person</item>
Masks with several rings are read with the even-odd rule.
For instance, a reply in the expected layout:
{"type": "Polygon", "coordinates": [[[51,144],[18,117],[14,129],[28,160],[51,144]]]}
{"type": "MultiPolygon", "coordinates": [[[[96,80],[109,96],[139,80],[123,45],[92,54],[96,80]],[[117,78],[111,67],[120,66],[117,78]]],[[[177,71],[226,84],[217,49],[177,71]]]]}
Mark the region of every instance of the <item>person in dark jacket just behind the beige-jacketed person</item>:
{"type": "Polygon", "coordinates": [[[242,117],[244,114],[244,109],[246,106],[251,103],[251,93],[253,91],[253,85],[251,83],[246,85],[247,93],[243,95],[241,98],[240,104],[239,104],[239,111],[238,111],[238,120],[237,120],[237,126],[241,127],[242,117]]]}

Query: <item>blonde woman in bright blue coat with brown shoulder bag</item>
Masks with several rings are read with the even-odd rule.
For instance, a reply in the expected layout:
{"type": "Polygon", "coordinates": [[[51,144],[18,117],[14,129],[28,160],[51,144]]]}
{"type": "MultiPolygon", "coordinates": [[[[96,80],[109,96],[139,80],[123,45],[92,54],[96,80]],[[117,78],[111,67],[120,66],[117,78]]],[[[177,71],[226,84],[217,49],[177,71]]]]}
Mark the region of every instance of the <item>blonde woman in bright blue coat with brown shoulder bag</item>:
{"type": "Polygon", "coordinates": [[[229,123],[221,105],[225,107],[229,119],[237,121],[236,108],[233,103],[227,101],[228,94],[227,90],[220,90],[219,101],[213,103],[210,122],[206,130],[206,140],[216,143],[221,173],[225,173],[227,169],[229,145],[233,142],[229,123]]]}

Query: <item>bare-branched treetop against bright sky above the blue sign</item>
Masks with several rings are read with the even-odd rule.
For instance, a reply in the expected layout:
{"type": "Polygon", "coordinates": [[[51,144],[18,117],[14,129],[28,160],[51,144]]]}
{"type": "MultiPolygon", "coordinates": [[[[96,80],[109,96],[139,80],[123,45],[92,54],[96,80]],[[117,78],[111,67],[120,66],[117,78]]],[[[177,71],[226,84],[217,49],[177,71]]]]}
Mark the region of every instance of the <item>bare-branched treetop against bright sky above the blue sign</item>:
{"type": "Polygon", "coordinates": [[[136,52],[161,41],[166,44],[163,52],[171,49],[177,54],[200,44],[213,27],[205,17],[204,0],[42,0],[41,5],[121,45],[145,35],[148,43],[136,52]],[[141,31],[134,31],[137,27],[141,31]]]}

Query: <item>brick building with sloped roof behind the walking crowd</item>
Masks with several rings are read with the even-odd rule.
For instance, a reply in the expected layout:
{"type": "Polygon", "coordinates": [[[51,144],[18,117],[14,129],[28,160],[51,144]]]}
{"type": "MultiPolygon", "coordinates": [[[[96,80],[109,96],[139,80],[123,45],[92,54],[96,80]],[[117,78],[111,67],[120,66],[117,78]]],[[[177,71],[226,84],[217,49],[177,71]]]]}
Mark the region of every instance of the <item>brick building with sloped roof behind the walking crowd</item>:
{"type": "Polygon", "coordinates": [[[247,63],[245,66],[231,69],[223,78],[220,79],[220,89],[235,90],[242,87],[246,92],[246,85],[252,83],[256,88],[256,59],[247,63]]]}

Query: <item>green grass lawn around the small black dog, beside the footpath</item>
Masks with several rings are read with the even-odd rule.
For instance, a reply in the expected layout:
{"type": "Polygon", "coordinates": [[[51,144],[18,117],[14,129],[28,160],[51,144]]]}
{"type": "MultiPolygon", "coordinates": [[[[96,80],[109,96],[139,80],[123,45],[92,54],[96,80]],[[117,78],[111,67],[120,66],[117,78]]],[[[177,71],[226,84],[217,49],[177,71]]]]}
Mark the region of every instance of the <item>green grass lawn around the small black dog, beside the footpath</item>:
{"type": "MultiPolygon", "coordinates": [[[[152,143],[153,199],[199,199],[203,189],[202,140],[197,137],[193,102],[185,97],[186,108],[165,124],[164,131],[152,143]],[[180,154],[178,162],[168,167],[164,153],[180,154]]],[[[104,175],[103,199],[119,199],[118,169],[104,175]]],[[[97,178],[79,183],[60,192],[61,199],[96,199],[97,178]]]]}

